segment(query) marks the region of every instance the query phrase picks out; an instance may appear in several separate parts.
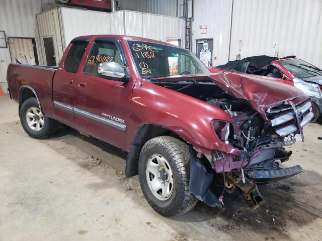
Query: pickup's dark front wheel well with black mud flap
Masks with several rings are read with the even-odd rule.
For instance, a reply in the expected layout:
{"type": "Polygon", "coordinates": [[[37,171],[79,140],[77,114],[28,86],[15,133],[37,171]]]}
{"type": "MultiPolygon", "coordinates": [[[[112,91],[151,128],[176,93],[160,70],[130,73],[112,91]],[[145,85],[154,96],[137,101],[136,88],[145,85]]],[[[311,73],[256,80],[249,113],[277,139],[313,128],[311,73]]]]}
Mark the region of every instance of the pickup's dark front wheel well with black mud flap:
{"type": "Polygon", "coordinates": [[[138,174],[138,161],[142,147],[148,140],[160,136],[171,136],[182,140],[176,133],[164,127],[153,124],[144,124],[139,126],[135,132],[131,149],[126,158],[126,177],[132,177],[138,174]]]}

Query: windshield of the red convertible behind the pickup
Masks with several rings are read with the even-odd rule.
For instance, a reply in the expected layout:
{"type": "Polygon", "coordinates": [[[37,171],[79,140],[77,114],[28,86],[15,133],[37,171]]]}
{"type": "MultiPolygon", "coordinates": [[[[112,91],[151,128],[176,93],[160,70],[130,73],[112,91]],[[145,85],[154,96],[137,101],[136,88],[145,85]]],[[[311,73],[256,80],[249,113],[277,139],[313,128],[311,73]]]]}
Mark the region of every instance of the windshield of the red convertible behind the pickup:
{"type": "Polygon", "coordinates": [[[278,63],[299,79],[322,75],[322,70],[300,59],[287,59],[278,63]]]}

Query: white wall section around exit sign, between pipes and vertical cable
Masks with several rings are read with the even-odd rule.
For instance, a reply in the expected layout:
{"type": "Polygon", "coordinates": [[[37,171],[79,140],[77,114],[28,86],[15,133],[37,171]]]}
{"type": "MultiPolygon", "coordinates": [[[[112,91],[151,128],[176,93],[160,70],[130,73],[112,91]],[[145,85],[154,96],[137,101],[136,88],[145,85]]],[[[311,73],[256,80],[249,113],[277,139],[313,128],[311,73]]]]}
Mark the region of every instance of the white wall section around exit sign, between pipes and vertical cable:
{"type": "Polygon", "coordinates": [[[232,0],[195,0],[192,51],[196,53],[196,40],[213,38],[213,65],[228,61],[231,3],[232,0]],[[205,25],[207,33],[201,34],[200,27],[205,25]]]}

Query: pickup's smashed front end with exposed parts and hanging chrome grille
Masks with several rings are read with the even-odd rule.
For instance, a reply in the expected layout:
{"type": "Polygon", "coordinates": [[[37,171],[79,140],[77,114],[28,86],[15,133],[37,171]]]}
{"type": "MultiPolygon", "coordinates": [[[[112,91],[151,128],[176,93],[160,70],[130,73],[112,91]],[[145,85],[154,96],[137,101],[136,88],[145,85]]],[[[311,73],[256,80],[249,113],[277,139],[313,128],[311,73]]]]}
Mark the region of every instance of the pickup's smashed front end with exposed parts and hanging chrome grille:
{"type": "Polygon", "coordinates": [[[224,191],[220,195],[211,186],[218,182],[215,176],[223,174],[223,189],[227,192],[238,189],[256,209],[265,203],[257,185],[303,171],[299,165],[282,168],[280,164],[292,154],[284,146],[293,145],[297,134],[304,140],[302,129],[314,117],[310,99],[298,97],[262,105],[262,111],[237,98],[209,98],[206,102],[225,110],[234,122],[213,121],[217,137],[229,146],[229,152],[213,150],[212,155],[205,155],[190,146],[189,191],[198,199],[221,208],[224,191]]]}

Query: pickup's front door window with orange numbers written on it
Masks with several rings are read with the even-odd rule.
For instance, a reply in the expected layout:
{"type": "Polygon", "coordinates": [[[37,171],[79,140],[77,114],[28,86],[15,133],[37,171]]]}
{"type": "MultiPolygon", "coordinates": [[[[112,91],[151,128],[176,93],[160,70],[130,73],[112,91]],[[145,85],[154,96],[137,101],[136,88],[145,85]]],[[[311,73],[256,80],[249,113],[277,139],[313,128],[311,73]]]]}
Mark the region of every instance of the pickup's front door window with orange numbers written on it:
{"type": "Polygon", "coordinates": [[[103,62],[116,62],[123,65],[120,51],[112,42],[95,42],[89,54],[84,73],[102,77],[98,74],[98,67],[103,62]]]}

